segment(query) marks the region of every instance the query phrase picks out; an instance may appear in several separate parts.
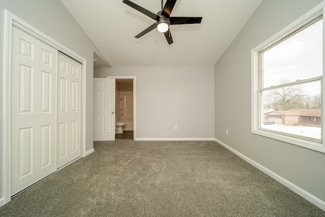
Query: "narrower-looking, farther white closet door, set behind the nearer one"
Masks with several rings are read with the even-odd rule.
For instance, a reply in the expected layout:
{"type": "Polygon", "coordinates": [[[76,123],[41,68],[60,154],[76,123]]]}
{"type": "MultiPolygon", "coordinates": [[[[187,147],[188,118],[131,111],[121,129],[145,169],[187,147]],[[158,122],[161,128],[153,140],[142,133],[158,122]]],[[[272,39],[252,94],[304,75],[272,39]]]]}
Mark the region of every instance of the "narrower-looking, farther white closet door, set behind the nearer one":
{"type": "Polygon", "coordinates": [[[80,157],[81,64],[58,52],[57,168],[80,157]]]}

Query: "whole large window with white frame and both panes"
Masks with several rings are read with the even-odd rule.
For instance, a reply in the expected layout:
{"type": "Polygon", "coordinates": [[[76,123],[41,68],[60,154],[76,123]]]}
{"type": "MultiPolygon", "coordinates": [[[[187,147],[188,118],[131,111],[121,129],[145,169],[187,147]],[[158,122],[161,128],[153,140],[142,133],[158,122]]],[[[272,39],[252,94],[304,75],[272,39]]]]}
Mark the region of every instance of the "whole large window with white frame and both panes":
{"type": "Polygon", "coordinates": [[[325,152],[324,24],[317,7],[252,50],[252,133],[325,152]]]}

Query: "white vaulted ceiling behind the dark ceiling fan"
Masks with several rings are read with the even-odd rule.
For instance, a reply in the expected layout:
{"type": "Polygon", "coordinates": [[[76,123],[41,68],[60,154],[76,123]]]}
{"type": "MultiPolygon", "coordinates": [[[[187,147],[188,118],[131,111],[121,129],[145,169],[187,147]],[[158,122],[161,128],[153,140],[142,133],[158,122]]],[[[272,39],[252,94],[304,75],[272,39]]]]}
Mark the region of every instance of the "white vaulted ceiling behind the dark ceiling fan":
{"type": "MultiPolygon", "coordinates": [[[[161,9],[161,0],[131,1],[153,13],[161,9]]],[[[61,2],[112,66],[211,66],[262,0],[178,0],[171,16],[203,19],[201,24],[171,25],[171,45],[155,29],[136,39],[155,21],[122,0],[61,2]]]]}

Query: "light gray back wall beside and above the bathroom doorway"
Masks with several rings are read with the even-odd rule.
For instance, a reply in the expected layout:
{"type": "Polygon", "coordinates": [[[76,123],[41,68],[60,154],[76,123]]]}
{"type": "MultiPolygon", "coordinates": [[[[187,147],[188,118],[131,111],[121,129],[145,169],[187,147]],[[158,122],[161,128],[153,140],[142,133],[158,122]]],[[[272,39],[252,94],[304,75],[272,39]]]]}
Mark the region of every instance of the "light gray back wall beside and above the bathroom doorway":
{"type": "Polygon", "coordinates": [[[214,68],[96,68],[95,77],[136,76],[137,138],[214,138],[214,68]],[[178,129],[175,130],[174,126],[178,129]]]}

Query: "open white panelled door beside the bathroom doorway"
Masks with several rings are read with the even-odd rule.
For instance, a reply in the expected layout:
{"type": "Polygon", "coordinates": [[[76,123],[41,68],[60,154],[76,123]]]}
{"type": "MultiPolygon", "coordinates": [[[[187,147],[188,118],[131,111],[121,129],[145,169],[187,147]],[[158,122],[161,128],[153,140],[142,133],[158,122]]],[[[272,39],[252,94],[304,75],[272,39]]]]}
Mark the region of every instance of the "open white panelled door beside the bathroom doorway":
{"type": "Polygon", "coordinates": [[[93,79],[93,140],[115,140],[115,79],[93,79]]]}

